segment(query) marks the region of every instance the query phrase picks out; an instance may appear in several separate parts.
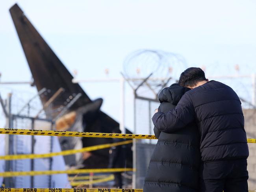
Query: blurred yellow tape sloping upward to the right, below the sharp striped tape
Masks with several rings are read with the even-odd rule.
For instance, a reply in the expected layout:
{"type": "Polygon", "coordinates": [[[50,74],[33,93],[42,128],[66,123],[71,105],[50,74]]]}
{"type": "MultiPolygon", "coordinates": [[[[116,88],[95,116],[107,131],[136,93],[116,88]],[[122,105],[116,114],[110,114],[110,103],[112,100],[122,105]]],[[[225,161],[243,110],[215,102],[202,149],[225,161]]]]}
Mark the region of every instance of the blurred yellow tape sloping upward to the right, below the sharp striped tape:
{"type": "Polygon", "coordinates": [[[125,145],[125,144],[130,144],[130,143],[132,143],[132,140],[109,143],[109,144],[95,145],[95,146],[85,147],[85,148],[82,148],[79,150],[66,150],[66,151],[45,153],[45,154],[4,155],[4,156],[0,156],[0,160],[2,160],[2,159],[4,159],[4,160],[36,159],[36,158],[54,157],[57,155],[71,155],[71,154],[75,154],[75,153],[82,153],[82,152],[86,152],[86,151],[96,151],[96,150],[101,150],[101,149],[110,148],[113,146],[125,145]]]}

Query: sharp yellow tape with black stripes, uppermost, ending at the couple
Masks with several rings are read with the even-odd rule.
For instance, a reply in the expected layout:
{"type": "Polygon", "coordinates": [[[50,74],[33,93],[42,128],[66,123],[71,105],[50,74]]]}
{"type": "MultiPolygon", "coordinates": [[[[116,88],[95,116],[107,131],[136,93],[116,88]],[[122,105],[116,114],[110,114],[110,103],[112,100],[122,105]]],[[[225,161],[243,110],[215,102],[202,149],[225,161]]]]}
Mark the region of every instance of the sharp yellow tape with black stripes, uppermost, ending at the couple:
{"type": "Polygon", "coordinates": [[[3,129],[0,128],[0,134],[10,135],[48,135],[61,137],[100,137],[100,138],[145,138],[157,139],[154,135],[135,135],[119,133],[93,133],[93,132],[76,132],[76,131],[46,131],[32,129],[3,129]]]}

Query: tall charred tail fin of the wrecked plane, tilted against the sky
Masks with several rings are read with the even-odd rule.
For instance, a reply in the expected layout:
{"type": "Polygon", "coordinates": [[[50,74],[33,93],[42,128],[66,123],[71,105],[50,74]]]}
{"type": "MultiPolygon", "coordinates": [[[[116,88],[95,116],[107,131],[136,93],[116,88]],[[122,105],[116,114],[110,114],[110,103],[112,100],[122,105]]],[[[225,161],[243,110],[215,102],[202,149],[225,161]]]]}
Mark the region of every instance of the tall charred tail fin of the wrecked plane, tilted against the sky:
{"type": "Polygon", "coordinates": [[[70,96],[74,97],[78,93],[81,93],[82,96],[72,105],[71,109],[77,109],[90,103],[90,98],[80,85],[72,83],[72,75],[37,32],[20,7],[15,4],[9,11],[37,90],[46,88],[52,93],[41,98],[43,105],[60,87],[65,91],[56,98],[53,108],[56,109],[63,105],[70,96]]]}

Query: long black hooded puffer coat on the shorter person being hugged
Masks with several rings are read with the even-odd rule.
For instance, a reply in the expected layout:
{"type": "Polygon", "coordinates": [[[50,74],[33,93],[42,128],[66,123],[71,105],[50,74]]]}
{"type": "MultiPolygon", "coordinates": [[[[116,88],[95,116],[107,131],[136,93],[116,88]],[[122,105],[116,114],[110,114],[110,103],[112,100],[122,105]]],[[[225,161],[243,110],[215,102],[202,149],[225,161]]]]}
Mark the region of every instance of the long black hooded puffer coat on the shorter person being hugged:
{"type": "MultiPolygon", "coordinates": [[[[173,109],[187,90],[178,84],[163,89],[158,96],[159,110],[166,113],[173,109]]],[[[158,142],[148,166],[143,192],[198,192],[200,151],[195,124],[172,134],[156,132],[156,137],[158,142]]]]}

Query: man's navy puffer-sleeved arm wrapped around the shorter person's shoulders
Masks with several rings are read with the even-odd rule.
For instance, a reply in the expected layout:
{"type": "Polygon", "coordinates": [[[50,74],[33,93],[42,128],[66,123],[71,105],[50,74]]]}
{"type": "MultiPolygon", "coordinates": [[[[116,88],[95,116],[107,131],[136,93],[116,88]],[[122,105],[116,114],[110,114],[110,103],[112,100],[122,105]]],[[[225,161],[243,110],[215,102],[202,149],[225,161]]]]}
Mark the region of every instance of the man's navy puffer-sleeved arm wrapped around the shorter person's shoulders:
{"type": "Polygon", "coordinates": [[[157,112],[152,117],[154,126],[165,133],[173,133],[186,127],[195,120],[195,110],[189,94],[186,92],[178,105],[166,114],[157,112]]]}

